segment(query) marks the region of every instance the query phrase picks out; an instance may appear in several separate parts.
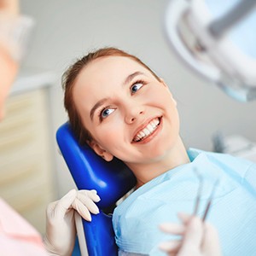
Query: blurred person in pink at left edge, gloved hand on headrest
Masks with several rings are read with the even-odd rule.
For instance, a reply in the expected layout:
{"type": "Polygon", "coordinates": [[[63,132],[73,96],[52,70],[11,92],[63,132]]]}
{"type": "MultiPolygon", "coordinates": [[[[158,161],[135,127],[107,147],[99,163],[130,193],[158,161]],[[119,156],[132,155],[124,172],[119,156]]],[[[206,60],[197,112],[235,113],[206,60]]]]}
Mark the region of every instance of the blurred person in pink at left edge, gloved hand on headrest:
{"type": "MultiPolygon", "coordinates": [[[[30,17],[20,15],[18,0],[0,0],[0,120],[32,25],[30,17]]],[[[99,200],[95,190],[73,189],[61,200],[50,203],[43,241],[38,231],[0,198],[1,255],[71,255],[76,238],[74,212],[90,221],[90,212],[98,212],[94,201],[99,200]]]]}

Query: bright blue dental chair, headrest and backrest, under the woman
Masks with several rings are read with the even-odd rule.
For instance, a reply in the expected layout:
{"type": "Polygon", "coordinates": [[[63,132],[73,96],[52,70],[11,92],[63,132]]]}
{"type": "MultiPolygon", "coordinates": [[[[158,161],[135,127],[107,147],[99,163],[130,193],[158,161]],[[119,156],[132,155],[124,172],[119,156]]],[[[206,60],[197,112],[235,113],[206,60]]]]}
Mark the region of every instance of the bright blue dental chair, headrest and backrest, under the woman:
{"type": "Polygon", "coordinates": [[[89,146],[80,146],[69,123],[61,125],[56,132],[56,140],[78,189],[96,189],[101,197],[101,201],[96,203],[100,213],[91,214],[91,222],[83,219],[82,231],[77,226],[81,254],[86,255],[82,252],[86,241],[89,256],[118,255],[112,216],[108,212],[135,186],[135,177],[122,161],[114,159],[107,162],[89,146]]]}

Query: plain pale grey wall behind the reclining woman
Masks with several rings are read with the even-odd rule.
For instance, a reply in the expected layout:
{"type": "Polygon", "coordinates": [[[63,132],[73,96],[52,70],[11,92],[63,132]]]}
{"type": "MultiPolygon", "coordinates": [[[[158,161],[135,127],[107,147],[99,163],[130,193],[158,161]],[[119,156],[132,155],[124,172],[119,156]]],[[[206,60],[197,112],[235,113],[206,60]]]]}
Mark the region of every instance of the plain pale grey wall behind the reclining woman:
{"type": "MultiPolygon", "coordinates": [[[[25,67],[60,75],[77,57],[102,46],[137,55],[169,84],[177,99],[181,135],[187,147],[212,149],[212,134],[241,134],[256,142],[256,102],[235,102],[185,69],[168,47],[163,32],[167,0],[21,0],[21,9],[37,22],[25,67]]],[[[67,118],[56,84],[55,130],[67,118]]],[[[73,186],[61,158],[60,194],[73,186]]]]}

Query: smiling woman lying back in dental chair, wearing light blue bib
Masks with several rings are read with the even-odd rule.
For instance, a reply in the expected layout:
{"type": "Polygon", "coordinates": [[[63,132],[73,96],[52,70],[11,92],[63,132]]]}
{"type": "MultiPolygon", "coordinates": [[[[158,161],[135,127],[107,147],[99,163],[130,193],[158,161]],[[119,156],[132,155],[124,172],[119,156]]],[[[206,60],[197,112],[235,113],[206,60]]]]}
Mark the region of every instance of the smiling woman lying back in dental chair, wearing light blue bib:
{"type": "Polygon", "coordinates": [[[204,180],[203,201],[216,179],[221,180],[209,219],[220,232],[224,253],[252,255],[255,164],[225,154],[187,151],[179,135],[177,102],[163,79],[137,57],[106,48],[75,62],[63,76],[63,88],[80,143],[88,143],[104,160],[123,160],[137,177],[135,192],[113,212],[120,251],[161,255],[158,244],[168,236],[158,225],[177,221],[178,211],[193,208],[199,180],[191,171],[196,169],[204,180]],[[246,202],[242,211],[237,209],[239,198],[246,202]],[[248,235],[250,240],[245,239],[248,235]]]}

